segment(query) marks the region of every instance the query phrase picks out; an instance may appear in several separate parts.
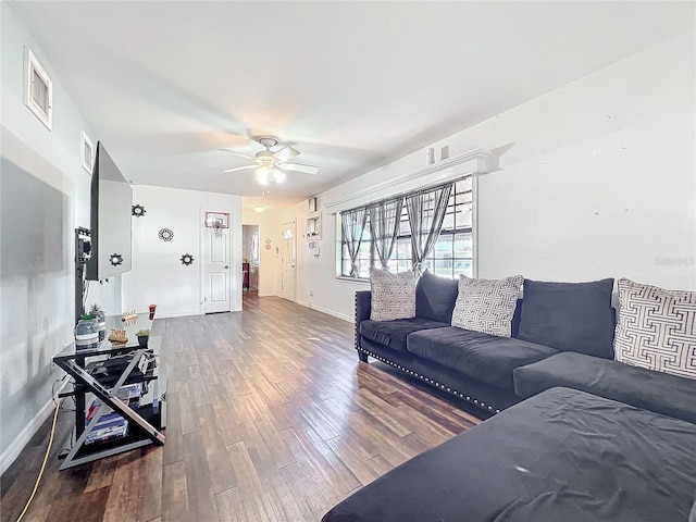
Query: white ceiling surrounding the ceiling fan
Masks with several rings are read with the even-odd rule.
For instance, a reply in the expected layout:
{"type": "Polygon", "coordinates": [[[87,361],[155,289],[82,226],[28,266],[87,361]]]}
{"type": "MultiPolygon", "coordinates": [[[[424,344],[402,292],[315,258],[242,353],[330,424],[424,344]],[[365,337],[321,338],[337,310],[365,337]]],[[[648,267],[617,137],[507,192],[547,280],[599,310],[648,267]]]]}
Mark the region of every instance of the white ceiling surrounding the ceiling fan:
{"type": "Polygon", "coordinates": [[[694,26],[693,2],[11,2],[124,175],[283,208],[694,26]],[[275,135],[320,166],[221,171],[275,135]]]}

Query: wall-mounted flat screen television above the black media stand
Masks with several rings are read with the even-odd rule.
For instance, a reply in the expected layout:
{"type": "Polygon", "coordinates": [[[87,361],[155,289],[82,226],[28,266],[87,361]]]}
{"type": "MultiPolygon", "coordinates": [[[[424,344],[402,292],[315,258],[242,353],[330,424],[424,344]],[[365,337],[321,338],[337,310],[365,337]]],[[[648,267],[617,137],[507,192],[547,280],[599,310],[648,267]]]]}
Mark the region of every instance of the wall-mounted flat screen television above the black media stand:
{"type": "Polygon", "coordinates": [[[91,173],[91,258],[85,276],[100,281],[130,270],[133,188],[101,142],[91,173]]]}

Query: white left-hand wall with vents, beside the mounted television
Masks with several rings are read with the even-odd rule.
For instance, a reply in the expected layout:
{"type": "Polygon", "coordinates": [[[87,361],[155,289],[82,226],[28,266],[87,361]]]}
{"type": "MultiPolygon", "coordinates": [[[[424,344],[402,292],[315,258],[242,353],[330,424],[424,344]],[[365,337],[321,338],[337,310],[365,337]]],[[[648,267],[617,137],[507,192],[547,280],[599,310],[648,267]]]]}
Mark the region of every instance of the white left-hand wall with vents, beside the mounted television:
{"type": "MultiPolygon", "coordinates": [[[[73,338],[73,228],[89,226],[89,174],[80,130],[89,128],[42,50],[0,4],[0,472],[51,413],[52,358],[73,338]],[[53,128],[24,105],[28,46],[53,80],[53,128]]],[[[95,136],[91,136],[95,139],[95,136]]],[[[96,142],[96,140],[95,140],[96,142]]],[[[111,287],[92,297],[113,301],[111,287]]]]}

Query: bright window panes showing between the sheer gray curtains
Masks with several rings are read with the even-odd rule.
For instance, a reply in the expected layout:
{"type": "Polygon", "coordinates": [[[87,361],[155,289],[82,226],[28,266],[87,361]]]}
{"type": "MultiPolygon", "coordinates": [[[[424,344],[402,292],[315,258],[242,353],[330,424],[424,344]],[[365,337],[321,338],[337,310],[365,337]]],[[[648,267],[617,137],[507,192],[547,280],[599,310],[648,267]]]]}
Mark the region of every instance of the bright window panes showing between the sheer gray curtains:
{"type": "MultiPolygon", "coordinates": [[[[449,196],[445,221],[439,237],[423,263],[431,273],[446,277],[458,277],[460,274],[473,276],[473,188],[472,177],[465,177],[455,183],[449,196]]],[[[431,210],[432,211],[432,210],[431,210]]],[[[393,273],[412,270],[411,229],[409,226],[407,206],[401,210],[399,233],[394,252],[388,262],[393,273]]],[[[370,277],[370,268],[380,266],[380,259],[375,251],[370,232],[370,214],[362,241],[358,252],[358,277],[370,277]]],[[[350,254],[346,238],[341,235],[340,275],[350,276],[350,254]]]]}

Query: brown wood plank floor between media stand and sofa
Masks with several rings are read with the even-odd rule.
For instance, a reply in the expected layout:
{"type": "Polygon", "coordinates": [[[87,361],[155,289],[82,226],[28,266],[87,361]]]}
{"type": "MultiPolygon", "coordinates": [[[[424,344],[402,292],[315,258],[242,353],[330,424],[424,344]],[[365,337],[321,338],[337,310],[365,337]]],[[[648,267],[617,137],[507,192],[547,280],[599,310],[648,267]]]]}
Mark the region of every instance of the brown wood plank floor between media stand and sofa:
{"type": "MultiPolygon", "coordinates": [[[[32,521],[318,521],[350,493],[480,422],[452,403],[359,363],[352,325],[283,299],[160,320],[167,368],[164,447],[58,471],[57,440],[32,521]]],[[[14,521],[48,423],[2,475],[14,521]]]]}

